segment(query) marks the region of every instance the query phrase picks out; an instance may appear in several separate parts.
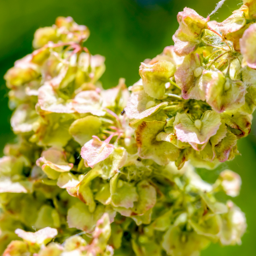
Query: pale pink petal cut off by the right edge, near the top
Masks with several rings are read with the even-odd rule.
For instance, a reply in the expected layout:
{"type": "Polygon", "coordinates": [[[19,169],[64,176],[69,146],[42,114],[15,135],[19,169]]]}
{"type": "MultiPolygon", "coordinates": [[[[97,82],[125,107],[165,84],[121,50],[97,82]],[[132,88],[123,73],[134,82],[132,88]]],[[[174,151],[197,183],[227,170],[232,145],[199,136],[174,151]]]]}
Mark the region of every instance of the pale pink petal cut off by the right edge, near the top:
{"type": "Polygon", "coordinates": [[[240,39],[243,65],[256,69],[256,23],[252,24],[243,33],[240,39]]]}

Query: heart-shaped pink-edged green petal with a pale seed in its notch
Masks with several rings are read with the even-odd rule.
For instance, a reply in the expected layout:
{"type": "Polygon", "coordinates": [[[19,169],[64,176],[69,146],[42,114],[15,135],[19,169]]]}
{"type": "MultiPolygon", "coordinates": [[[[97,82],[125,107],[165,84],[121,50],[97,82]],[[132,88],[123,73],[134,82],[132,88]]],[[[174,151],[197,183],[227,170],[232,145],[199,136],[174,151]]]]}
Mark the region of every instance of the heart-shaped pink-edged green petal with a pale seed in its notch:
{"type": "Polygon", "coordinates": [[[221,121],[218,113],[207,110],[201,118],[200,129],[195,127],[195,122],[186,113],[177,113],[173,125],[177,138],[195,147],[195,144],[207,143],[217,133],[221,121]]]}

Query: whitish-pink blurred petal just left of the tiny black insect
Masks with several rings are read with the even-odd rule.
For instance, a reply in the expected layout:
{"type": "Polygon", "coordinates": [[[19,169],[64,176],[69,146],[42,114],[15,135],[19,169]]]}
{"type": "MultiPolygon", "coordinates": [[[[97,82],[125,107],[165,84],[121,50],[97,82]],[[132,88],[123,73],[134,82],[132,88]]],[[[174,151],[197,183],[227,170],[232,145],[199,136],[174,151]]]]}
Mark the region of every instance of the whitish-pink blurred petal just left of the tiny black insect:
{"type": "Polygon", "coordinates": [[[92,113],[97,116],[105,114],[102,111],[101,96],[95,90],[81,91],[73,99],[73,108],[78,113],[92,113]]]}

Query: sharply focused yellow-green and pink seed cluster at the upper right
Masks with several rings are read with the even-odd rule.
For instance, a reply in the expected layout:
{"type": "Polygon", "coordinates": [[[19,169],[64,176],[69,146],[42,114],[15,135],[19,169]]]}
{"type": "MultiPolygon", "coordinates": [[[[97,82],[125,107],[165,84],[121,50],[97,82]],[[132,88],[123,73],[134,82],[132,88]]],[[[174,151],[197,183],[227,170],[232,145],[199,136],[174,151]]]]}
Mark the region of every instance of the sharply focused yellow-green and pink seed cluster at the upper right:
{"type": "Polygon", "coordinates": [[[142,158],[214,168],[239,154],[256,107],[255,1],[244,2],[221,23],[185,8],[174,46],[142,63],[125,108],[142,158]]]}

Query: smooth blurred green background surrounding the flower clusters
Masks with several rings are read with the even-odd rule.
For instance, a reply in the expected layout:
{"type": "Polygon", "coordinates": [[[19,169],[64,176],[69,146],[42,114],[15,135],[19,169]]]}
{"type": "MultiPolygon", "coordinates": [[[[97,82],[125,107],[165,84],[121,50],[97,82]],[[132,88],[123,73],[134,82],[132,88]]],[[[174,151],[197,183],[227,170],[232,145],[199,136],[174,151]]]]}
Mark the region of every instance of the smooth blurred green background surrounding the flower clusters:
{"type": "MultiPolygon", "coordinates": [[[[216,3],[218,0],[0,0],[0,156],[4,144],[14,137],[9,125],[11,112],[3,75],[15,60],[32,52],[33,33],[38,27],[51,26],[60,15],[72,16],[77,23],[88,26],[90,38],[86,46],[93,55],[106,57],[107,70],[102,83],[109,88],[118,84],[120,77],[126,79],[127,85],[136,82],[140,62],[173,44],[178,11],[189,7],[207,17],[216,3]]],[[[211,20],[224,20],[240,5],[239,0],[226,0],[211,20]]],[[[254,120],[251,134],[238,143],[241,156],[213,171],[198,170],[209,182],[227,168],[241,175],[241,195],[234,201],[246,212],[248,224],[241,246],[213,244],[201,255],[256,255],[255,123],[254,120]]]]}

